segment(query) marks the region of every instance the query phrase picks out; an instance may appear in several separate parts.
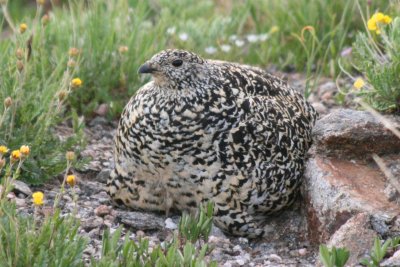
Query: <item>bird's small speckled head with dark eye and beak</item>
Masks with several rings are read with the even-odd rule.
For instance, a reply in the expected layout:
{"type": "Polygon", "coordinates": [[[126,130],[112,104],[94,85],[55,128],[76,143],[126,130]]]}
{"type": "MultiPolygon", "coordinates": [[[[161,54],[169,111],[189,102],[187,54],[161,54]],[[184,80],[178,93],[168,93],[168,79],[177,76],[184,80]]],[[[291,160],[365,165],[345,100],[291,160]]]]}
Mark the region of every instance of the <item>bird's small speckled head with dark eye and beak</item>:
{"type": "Polygon", "coordinates": [[[185,89],[195,87],[206,78],[205,63],[192,52],[170,49],[154,55],[138,72],[150,73],[158,86],[185,89]]]}

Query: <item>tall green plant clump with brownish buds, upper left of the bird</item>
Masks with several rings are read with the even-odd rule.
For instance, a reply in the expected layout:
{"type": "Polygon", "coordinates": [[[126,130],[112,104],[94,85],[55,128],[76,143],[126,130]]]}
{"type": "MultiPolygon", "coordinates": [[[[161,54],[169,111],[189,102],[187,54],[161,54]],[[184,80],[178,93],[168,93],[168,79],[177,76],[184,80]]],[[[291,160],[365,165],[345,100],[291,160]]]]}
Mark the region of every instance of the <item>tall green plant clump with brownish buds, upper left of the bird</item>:
{"type": "MultiPolygon", "coordinates": [[[[37,2],[36,16],[26,22],[13,21],[8,2],[0,1],[9,36],[0,42],[0,145],[29,144],[32,155],[21,166],[20,175],[31,183],[60,173],[65,168],[63,154],[73,145],[83,144],[82,121],[76,112],[65,113],[70,95],[83,86],[76,77],[80,58],[68,50],[54,53],[45,49],[48,15],[37,2]],[[17,25],[17,26],[16,26],[17,25]],[[74,60],[75,65],[67,64],[74,60]],[[73,130],[61,140],[55,126],[72,118],[73,130]]],[[[1,173],[0,173],[1,174],[1,173]]]]}

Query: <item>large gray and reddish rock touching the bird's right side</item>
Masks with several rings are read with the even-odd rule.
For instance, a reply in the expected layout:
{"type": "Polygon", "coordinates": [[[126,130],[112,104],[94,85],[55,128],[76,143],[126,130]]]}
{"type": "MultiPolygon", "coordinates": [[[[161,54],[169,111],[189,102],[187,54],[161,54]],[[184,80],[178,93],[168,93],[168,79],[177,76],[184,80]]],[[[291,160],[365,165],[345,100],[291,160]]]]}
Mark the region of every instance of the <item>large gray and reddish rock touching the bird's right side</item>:
{"type": "MultiPolygon", "coordinates": [[[[380,155],[398,179],[399,138],[369,113],[346,109],[320,119],[313,135],[303,187],[311,241],[329,240],[358,213],[374,215],[383,224],[400,214],[398,195],[387,193],[390,183],[372,160],[373,153],[380,155]]],[[[378,228],[383,224],[376,223],[378,228]]]]}

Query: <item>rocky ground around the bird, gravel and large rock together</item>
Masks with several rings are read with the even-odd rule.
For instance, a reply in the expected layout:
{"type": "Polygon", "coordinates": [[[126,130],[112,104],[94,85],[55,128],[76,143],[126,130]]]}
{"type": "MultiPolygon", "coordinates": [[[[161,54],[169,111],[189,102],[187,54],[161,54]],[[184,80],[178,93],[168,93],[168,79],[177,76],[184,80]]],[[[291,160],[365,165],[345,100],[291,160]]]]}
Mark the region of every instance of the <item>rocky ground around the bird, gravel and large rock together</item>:
{"type": "MultiPolygon", "coordinates": [[[[304,78],[292,74],[289,83],[301,87],[304,78]]],[[[266,222],[270,234],[263,239],[226,236],[214,227],[209,242],[215,248],[209,257],[219,266],[315,266],[319,264],[320,243],[346,246],[352,255],[349,264],[356,265],[368,253],[376,235],[399,235],[400,139],[371,114],[338,107],[336,92],[333,81],[322,80],[310,97],[321,118],[314,130],[302,195],[293,207],[266,222]]],[[[399,118],[387,120],[400,126],[399,118]]],[[[89,144],[82,156],[92,160],[84,170],[76,171],[77,207],[71,192],[60,203],[65,214],[78,210],[80,233],[90,239],[87,260],[99,255],[106,228],[114,231],[123,225],[131,239],[146,237],[150,245],[155,245],[171,238],[179,221],[179,215],[167,218],[111,206],[105,182],[113,164],[115,128],[116,122],[107,122],[101,116],[88,123],[89,144]]],[[[50,207],[61,179],[32,189],[19,183],[11,197],[21,212],[32,212],[31,190],[41,190],[46,195],[46,207],[50,207]]],[[[42,212],[50,211],[44,208],[42,212]]],[[[400,266],[400,253],[385,264],[400,266]]]]}

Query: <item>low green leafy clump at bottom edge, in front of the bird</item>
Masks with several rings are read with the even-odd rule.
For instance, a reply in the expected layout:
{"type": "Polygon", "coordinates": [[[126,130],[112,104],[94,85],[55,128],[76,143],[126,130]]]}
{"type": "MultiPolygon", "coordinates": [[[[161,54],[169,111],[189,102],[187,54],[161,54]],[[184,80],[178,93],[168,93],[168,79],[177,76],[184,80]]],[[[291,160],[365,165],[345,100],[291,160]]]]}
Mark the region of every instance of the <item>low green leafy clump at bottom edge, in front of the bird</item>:
{"type": "Polygon", "coordinates": [[[206,260],[212,249],[206,243],[212,226],[212,212],[213,205],[208,203],[200,208],[197,216],[184,214],[178,234],[152,249],[146,239],[129,240],[129,233],[121,244],[121,228],[111,236],[106,230],[100,259],[92,260],[91,266],[217,266],[216,262],[206,260]]]}

